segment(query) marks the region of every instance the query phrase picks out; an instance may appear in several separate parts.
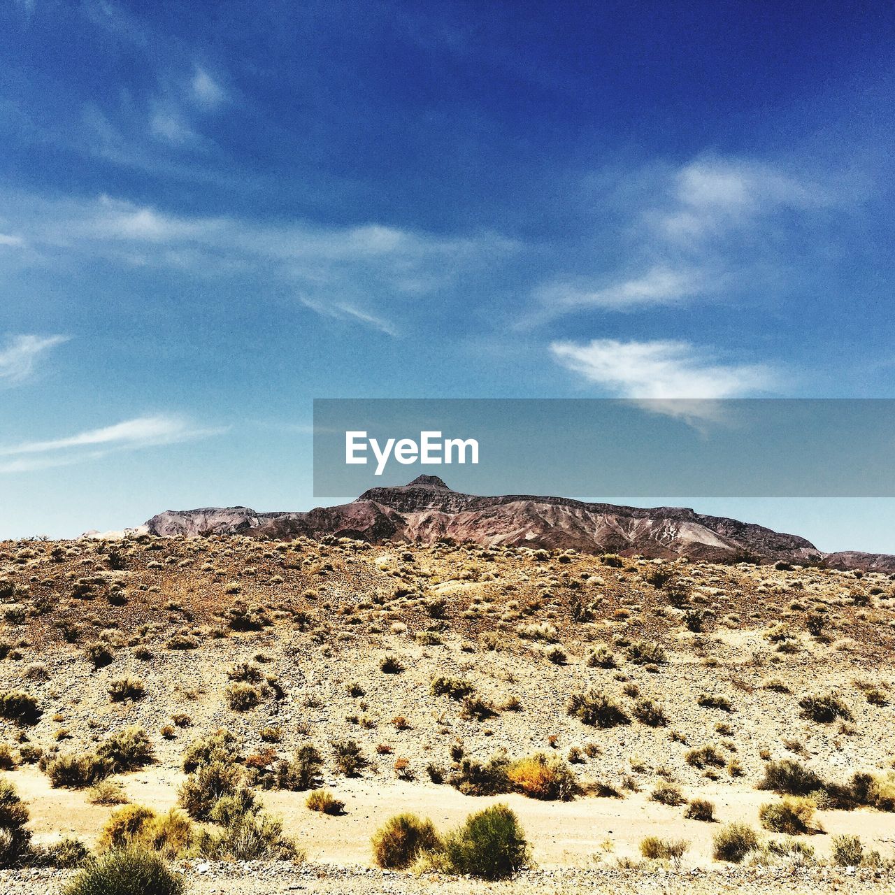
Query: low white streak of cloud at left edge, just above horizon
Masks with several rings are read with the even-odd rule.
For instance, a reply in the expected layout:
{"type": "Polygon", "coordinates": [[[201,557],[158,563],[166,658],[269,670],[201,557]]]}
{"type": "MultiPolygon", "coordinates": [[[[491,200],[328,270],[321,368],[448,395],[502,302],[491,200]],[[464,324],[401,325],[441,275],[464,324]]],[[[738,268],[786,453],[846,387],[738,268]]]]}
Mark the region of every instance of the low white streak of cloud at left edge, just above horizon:
{"type": "Polygon", "coordinates": [[[58,439],[0,446],[0,456],[12,458],[0,462],[0,473],[21,473],[86,463],[107,456],[112,451],[176,444],[208,438],[223,431],[198,426],[180,416],[141,416],[58,439]]]}

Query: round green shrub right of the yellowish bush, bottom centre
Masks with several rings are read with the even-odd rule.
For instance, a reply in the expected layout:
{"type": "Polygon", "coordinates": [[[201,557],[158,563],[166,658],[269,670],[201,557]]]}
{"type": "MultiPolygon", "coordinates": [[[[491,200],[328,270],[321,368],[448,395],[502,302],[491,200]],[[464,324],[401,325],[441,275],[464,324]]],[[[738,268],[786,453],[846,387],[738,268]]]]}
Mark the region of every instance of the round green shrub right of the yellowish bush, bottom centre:
{"type": "Polygon", "coordinates": [[[470,814],[444,840],[447,863],[457,874],[503,880],[528,865],[529,848],[516,814],[507,805],[492,805],[470,814]]]}

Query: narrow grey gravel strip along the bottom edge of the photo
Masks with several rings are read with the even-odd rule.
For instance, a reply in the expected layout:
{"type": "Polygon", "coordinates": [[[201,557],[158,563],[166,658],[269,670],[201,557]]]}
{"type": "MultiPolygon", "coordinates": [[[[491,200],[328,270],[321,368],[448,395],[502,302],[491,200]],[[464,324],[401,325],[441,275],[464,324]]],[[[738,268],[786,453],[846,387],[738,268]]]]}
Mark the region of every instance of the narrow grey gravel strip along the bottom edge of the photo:
{"type": "MultiPolygon", "coordinates": [[[[550,895],[611,891],[613,893],[661,892],[701,895],[721,892],[787,893],[895,892],[895,874],[854,868],[741,868],[712,871],[639,871],[593,868],[587,870],[533,870],[510,882],[488,883],[465,877],[415,877],[388,871],[333,865],[280,863],[186,862],[189,895],[274,895],[304,892],[309,895],[504,895],[538,892],[550,895]]],[[[56,895],[71,873],[33,870],[0,871],[0,891],[6,895],[56,895]]]]}

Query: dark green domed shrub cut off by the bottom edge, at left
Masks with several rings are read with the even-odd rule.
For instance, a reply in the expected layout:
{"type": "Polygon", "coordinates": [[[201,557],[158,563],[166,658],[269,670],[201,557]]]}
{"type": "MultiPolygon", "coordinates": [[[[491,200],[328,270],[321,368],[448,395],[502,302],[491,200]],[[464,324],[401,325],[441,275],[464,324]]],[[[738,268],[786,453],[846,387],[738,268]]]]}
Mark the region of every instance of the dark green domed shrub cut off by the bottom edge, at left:
{"type": "Polygon", "coordinates": [[[182,895],[183,877],[173,874],[149,848],[110,851],[90,861],[64,895],[182,895]]]}

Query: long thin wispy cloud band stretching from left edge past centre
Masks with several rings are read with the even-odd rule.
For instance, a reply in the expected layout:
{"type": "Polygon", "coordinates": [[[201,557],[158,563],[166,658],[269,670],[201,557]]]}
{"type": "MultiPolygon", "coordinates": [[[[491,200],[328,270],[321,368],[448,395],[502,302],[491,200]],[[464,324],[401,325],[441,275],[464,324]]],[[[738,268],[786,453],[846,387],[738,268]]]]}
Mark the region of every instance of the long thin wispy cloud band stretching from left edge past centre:
{"type": "Polygon", "coordinates": [[[15,232],[40,263],[90,257],[173,268],[203,279],[251,275],[277,291],[285,287],[322,316],[390,336],[398,332],[393,318],[403,303],[423,299],[516,248],[493,234],[452,237],[379,224],[190,217],[107,196],[0,198],[15,232]]]}

